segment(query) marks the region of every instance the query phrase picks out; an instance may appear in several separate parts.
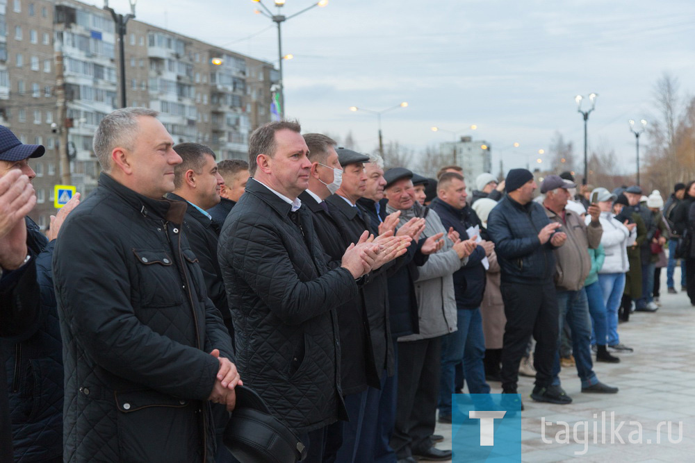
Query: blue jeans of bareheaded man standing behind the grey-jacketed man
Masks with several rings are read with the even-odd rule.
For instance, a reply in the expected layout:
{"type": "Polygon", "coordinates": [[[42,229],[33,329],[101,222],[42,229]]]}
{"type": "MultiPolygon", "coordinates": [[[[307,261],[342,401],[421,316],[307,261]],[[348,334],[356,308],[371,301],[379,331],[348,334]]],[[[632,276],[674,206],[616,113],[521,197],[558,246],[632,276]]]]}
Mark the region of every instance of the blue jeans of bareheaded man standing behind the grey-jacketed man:
{"type": "Polygon", "coordinates": [[[480,308],[457,310],[458,330],[441,338],[441,372],[439,373],[439,414],[451,414],[454,393],[454,369],[464,360],[464,377],[471,394],[488,394],[485,382],[485,338],[482,334],[480,308]]]}

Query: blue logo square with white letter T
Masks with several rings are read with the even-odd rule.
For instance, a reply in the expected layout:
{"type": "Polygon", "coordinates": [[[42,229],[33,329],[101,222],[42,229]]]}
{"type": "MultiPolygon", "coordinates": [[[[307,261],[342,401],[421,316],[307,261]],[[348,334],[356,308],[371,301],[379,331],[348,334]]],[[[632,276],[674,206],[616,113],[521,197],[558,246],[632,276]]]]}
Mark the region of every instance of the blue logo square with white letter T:
{"type": "Polygon", "coordinates": [[[452,394],[452,462],[515,462],[521,456],[518,394],[452,394]],[[514,401],[516,399],[516,401],[514,401]]]}

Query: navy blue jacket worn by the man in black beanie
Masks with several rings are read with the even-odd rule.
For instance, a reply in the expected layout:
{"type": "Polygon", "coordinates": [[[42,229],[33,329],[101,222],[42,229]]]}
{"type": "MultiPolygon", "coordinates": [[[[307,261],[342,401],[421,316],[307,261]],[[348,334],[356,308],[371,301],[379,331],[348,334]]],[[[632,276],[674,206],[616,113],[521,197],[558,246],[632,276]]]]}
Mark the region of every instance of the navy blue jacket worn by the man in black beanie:
{"type": "Polygon", "coordinates": [[[541,228],[548,224],[543,206],[534,201],[521,205],[507,195],[491,210],[487,233],[495,243],[502,283],[553,283],[555,246],[538,239],[541,228]]]}

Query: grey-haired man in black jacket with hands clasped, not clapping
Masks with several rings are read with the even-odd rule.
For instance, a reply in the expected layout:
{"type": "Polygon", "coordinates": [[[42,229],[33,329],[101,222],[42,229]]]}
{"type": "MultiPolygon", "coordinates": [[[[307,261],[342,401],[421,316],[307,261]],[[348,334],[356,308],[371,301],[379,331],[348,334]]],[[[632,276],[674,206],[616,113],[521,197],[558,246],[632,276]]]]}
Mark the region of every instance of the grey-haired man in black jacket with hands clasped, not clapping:
{"type": "Polygon", "coordinates": [[[65,462],[212,462],[208,401],[234,408],[231,339],[174,190],[157,113],[124,108],[94,137],[99,186],[63,224],[54,280],[65,361],[65,462]]]}

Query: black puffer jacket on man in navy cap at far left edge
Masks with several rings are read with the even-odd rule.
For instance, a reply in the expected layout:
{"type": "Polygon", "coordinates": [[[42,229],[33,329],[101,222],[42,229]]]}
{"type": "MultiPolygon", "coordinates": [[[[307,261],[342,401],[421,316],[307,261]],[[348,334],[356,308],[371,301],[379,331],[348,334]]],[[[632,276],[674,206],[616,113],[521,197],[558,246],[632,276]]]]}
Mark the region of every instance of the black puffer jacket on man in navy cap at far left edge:
{"type": "Polygon", "coordinates": [[[63,346],[51,272],[55,241],[49,243],[28,217],[26,233],[27,248],[36,260],[41,312],[40,324],[31,337],[2,343],[15,462],[63,455],[63,346]]]}

